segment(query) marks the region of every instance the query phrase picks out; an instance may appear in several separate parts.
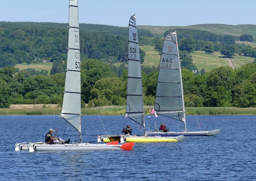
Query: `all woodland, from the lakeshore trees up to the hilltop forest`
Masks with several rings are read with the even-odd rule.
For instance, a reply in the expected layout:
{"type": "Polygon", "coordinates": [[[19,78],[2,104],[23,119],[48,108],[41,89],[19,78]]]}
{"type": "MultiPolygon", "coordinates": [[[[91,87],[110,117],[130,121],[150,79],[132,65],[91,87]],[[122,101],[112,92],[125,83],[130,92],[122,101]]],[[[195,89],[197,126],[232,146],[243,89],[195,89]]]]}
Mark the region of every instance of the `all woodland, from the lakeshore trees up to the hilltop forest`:
{"type": "MultiPolygon", "coordinates": [[[[58,103],[61,105],[68,45],[68,24],[0,22],[0,108],[9,104],[58,103]],[[13,66],[26,62],[53,62],[51,72],[13,66]],[[50,73],[50,75],[49,75],[50,73]]],[[[173,32],[168,30],[165,32],[173,32]]],[[[220,51],[256,57],[256,49],[236,40],[252,41],[248,34],[234,37],[194,29],[176,29],[180,49],[185,105],[256,107],[256,63],[239,69],[220,67],[197,70],[189,52],[220,51]],[[193,73],[191,70],[197,70],[193,73]]],[[[128,28],[80,24],[82,106],[91,99],[97,106],[125,105],[127,85],[128,28]],[[121,62],[120,66],[114,63],[121,62]]],[[[146,29],[138,29],[139,43],[161,51],[164,38],[146,29]]],[[[140,49],[143,63],[145,52],[140,49]]],[[[256,59],[255,59],[256,61],[256,59]]],[[[254,61],[254,62],[255,62],[254,61]]],[[[157,67],[141,67],[144,104],[154,105],[157,67]]]]}

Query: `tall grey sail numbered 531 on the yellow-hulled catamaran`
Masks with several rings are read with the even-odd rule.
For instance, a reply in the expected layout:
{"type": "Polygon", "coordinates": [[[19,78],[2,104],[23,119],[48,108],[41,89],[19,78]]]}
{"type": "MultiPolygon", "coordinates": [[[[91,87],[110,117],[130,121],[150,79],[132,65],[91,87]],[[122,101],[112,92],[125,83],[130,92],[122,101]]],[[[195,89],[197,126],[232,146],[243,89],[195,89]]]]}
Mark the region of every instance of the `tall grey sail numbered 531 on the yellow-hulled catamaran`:
{"type": "Polygon", "coordinates": [[[135,14],[129,20],[128,78],[126,94],[126,116],[144,127],[144,105],[140,52],[135,14]]]}

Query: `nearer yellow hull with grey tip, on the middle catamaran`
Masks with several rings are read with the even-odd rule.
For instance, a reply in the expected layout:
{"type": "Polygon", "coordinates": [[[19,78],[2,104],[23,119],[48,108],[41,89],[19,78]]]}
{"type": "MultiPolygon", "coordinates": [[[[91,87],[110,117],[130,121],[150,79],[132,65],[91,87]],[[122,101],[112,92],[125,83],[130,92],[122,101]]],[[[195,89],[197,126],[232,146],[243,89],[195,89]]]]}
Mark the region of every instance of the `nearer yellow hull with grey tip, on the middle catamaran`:
{"type": "Polygon", "coordinates": [[[136,142],[136,143],[153,143],[153,142],[177,142],[184,139],[183,135],[177,137],[152,137],[152,136],[121,136],[121,143],[136,142]]]}

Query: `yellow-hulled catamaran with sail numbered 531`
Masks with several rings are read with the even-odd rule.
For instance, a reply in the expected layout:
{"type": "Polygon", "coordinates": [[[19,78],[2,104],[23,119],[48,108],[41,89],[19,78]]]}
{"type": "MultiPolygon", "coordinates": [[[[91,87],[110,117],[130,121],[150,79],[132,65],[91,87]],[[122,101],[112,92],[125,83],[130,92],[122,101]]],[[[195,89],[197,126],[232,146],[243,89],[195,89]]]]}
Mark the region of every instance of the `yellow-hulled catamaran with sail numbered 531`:
{"type": "Polygon", "coordinates": [[[129,20],[129,49],[128,49],[128,78],[127,78],[127,94],[126,94],[126,114],[125,117],[130,118],[134,122],[140,124],[144,128],[143,136],[131,135],[110,135],[98,136],[98,141],[119,139],[123,142],[171,142],[181,141],[184,136],[179,137],[157,137],[146,136],[144,121],[144,105],[142,92],[142,77],[140,68],[140,52],[138,33],[136,27],[135,15],[129,20]]]}

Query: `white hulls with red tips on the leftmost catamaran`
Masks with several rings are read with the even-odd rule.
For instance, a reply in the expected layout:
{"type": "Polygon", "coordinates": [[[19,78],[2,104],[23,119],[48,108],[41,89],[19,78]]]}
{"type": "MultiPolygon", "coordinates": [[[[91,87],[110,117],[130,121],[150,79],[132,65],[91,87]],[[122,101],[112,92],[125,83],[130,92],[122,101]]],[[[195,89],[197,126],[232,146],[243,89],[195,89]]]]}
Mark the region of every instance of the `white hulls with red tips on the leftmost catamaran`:
{"type": "Polygon", "coordinates": [[[132,150],[134,143],[124,143],[118,145],[118,142],[110,142],[108,144],[90,144],[90,143],[75,143],[64,145],[49,145],[43,142],[38,143],[16,143],[15,151],[102,151],[102,150],[132,150]]]}

